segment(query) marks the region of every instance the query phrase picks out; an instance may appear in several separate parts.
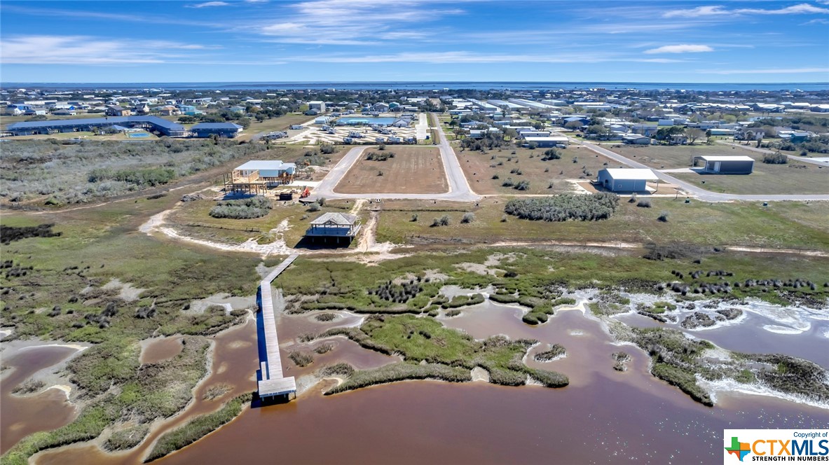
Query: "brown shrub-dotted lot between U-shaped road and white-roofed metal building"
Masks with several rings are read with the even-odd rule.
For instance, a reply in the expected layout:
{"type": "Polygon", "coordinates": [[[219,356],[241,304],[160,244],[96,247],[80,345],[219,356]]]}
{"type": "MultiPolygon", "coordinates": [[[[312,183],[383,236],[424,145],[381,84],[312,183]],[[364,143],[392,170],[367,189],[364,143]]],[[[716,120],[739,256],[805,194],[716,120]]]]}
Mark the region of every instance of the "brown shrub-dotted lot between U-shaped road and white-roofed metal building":
{"type": "Polygon", "coordinates": [[[469,185],[478,194],[557,194],[573,191],[574,183],[567,180],[595,179],[602,168],[622,167],[618,162],[579,147],[557,148],[559,159],[541,161],[546,150],[495,148],[484,152],[461,152],[455,148],[455,153],[469,185]],[[517,191],[513,186],[504,186],[505,182],[510,183],[508,180],[513,185],[526,181],[530,186],[524,191],[517,191]]]}

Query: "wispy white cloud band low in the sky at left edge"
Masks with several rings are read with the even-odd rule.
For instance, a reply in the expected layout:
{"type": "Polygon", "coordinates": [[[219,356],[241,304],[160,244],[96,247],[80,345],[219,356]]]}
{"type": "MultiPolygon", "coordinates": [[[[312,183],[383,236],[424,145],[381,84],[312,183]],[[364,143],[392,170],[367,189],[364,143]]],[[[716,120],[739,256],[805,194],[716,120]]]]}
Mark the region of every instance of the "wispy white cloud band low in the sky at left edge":
{"type": "Polygon", "coordinates": [[[186,61],[205,46],[90,36],[17,36],[0,41],[3,64],[124,65],[186,61]]]}

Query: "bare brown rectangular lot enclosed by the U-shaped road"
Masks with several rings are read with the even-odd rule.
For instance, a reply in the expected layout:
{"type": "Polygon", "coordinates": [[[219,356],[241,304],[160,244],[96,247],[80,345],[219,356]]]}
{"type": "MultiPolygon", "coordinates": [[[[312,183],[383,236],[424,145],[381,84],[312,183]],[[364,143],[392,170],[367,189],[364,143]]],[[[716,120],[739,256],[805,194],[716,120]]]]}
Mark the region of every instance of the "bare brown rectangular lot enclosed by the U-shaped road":
{"type": "Polygon", "coordinates": [[[337,184],[337,192],[439,194],[449,189],[437,148],[386,146],[385,152],[395,157],[383,162],[366,160],[371,152],[381,150],[367,148],[337,184]]]}

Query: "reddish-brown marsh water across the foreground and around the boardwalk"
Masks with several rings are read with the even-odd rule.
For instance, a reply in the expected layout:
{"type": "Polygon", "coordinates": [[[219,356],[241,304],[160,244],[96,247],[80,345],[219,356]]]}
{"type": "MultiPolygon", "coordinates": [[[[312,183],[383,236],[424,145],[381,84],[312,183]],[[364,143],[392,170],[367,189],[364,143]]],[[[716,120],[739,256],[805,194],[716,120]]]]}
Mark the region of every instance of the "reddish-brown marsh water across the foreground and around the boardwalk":
{"type": "MultiPolygon", "coordinates": [[[[293,366],[288,351],[309,351],[320,343],[299,343],[299,334],[355,324],[359,319],[338,314],[342,319],[327,323],[308,315],[280,319],[286,374],[300,380],[333,361],[368,368],[395,360],[333,338],[332,351],[314,354],[312,366],[293,366]]],[[[527,363],[565,373],[570,376],[569,386],[551,390],[407,381],[323,396],[322,385],[330,382],[325,381],[288,404],[246,409],[230,424],[160,462],[711,463],[720,458],[722,429],[829,424],[829,409],[767,396],[720,393],[714,408],[698,404],[653,378],[644,352],[614,344],[600,322],[578,310],[557,312],[537,327],[520,318],[521,308],[486,302],[464,308],[458,317],[440,319],[476,338],[507,334],[541,341],[527,363]],[[555,342],[566,347],[565,358],[532,360],[536,351],[555,342]],[[620,350],[632,356],[626,372],[613,371],[610,355],[620,350]]],[[[214,372],[196,389],[196,402],[187,415],[206,413],[221,404],[221,400],[201,400],[207,386],[233,385],[222,399],[254,390],[256,366],[254,322],[216,337],[214,372]]],[[[151,440],[158,434],[153,433],[151,440]]],[[[145,445],[114,456],[85,445],[41,453],[36,463],[139,463],[147,450],[145,445]]]]}

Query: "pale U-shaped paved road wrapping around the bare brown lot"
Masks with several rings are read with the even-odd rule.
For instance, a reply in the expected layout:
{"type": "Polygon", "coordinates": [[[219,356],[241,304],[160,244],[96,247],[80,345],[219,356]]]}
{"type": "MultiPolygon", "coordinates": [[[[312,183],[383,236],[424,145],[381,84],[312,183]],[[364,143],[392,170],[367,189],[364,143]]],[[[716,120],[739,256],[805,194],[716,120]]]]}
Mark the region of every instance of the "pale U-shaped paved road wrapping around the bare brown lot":
{"type": "MultiPolygon", "coordinates": [[[[436,116],[434,116],[434,118],[437,119],[436,116]]],[[[437,127],[440,126],[437,121],[435,121],[435,125],[437,127]]],[[[343,176],[345,176],[351,166],[360,159],[363,151],[366,150],[366,148],[376,148],[375,146],[360,146],[351,148],[351,150],[346,153],[346,156],[342,157],[342,160],[340,160],[340,162],[337,163],[337,166],[333,167],[332,170],[328,172],[325,179],[323,179],[322,182],[319,183],[319,186],[313,190],[312,195],[308,199],[314,201],[319,197],[325,197],[326,199],[426,199],[444,201],[480,200],[481,196],[478,196],[478,194],[472,191],[466,176],[463,175],[463,169],[461,168],[460,162],[458,162],[458,156],[455,155],[455,151],[452,146],[449,145],[449,141],[444,135],[444,132],[439,130],[437,133],[440,138],[438,149],[440,151],[441,160],[444,162],[446,180],[449,184],[448,192],[444,192],[443,194],[389,194],[381,192],[341,194],[335,192],[334,187],[337,186],[337,183],[340,182],[343,176]]]]}

